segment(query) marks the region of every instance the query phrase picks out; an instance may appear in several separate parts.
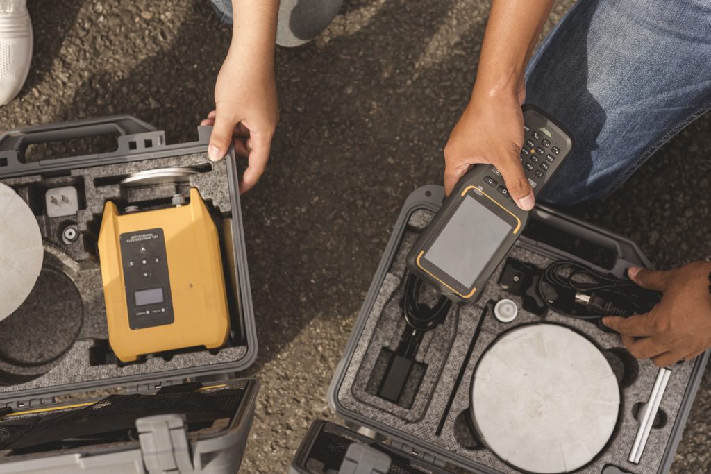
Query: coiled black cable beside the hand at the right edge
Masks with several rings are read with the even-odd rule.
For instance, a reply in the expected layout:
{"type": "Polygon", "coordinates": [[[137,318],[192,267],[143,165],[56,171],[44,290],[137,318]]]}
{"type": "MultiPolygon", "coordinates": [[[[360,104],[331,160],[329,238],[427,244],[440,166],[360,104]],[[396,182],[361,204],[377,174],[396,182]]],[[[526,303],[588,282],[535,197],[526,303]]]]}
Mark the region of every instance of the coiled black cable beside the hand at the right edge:
{"type": "Polygon", "coordinates": [[[556,313],[579,319],[642,314],[661,300],[660,293],[643,289],[634,281],[567,260],[546,267],[538,281],[538,295],[556,313]],[[559,301],[560,293],[573,301],[559,301]],[[575,313],[566,311],[564,306],[575,313]]]}

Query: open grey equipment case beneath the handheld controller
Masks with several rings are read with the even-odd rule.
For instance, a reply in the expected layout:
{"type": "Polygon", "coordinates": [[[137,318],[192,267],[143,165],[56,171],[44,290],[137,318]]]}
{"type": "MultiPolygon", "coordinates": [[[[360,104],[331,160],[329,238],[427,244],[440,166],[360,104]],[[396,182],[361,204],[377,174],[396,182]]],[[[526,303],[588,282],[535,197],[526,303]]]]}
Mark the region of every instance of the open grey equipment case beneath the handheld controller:
{"type": "MultiPolygon", "coordinates": [[[[538,316],[522,308],[522,298],[512,296],[498,284],[503,263],[478,301],[451,306],[444,321],[424,335],[410,370],[410,378],[417,381],[405,385],[397,402],[378,396],[387,355],[397,350],[405,330],[400,308],[405,291],[405,257],[443,200],[443,188],[429,185],[415,190],[405,202],[328,389],[331,409],[346,421],[346,426],[315,421],[289,472],[522,472],[489,451],[477,437],[469,416],[471,380],[492,341],[511,328],[535,326],[541,321],[563,325],[588,338],[604,354],[619,384],[619,413],[609,441],[574,472],[668,472],[709,351],[671,367],[646,448],[640,462],[631,463],[628,456],[640,424],[638,416],[645,411],[657,367],[650,360],[635,360],[618,335],[605,332],[597,324],[550,310],[538,316]],[[491,301],[501,298],[513,299],[518,306],[513,322],[502,323],[491,311],[486,313],[491,301]]],[[[649,266],[634,242],[541,205],[533,210],[527,229],[508,257],[540,268],[555,260],[571,260],[617,277],[622,277],[628,266],[649,266]]],[[[510,436],[515,436],[515,429],[510,430],[510,436]]]]}

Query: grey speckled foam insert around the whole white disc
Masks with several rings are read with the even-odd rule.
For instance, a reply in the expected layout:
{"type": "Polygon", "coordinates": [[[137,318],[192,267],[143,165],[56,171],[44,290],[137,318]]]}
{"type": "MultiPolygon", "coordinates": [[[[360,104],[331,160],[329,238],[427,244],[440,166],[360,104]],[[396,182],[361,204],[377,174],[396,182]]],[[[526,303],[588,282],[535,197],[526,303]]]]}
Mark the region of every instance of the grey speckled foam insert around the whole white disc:
{"type": "MultiPolygon", "coordinates": [[[[520,298],[506,293],[496,283],[503,268],[502,264],[484,287],[479,300],[472,305],[461,306],[458,312],[453,309],[447,316],[447,322],[437,329],[439,334],[432,335],[432,339],[442,338],[442,342],[429,345],[425,349],[426,352],[419,355],[427,360],[442,361],[442,364],[435,363],[428,367],[427,373],[424,375],[424,381],[427,381],[427,384],[423,382],[421,389],[415,395],[412,409],[402,409],[396,404],[368,394],[366,385],[368,377],[373,371],[373,361],[378,357],[383,344],[390,344],[392,347],[390,338],[399,338],[402,333],[402,312],[399,306],[393,306],[388,301],[392,300],[394,294],[402,291],[400,287],[405,274],[405,257],[417,235],[422,232],[431,218],[432,212],[425,210],[417,210],[411,215],[397,254],[395,254],[390,269],[383,280],[375,303],[366,317],[363,332],[360,334],[351,360],[345,368],[343,382],[338,387],[338,402],[345,409],[364,416],[366,419],[391,426],[396,432],[404,433],[406,436],[449,451],[453,455],[452,460],[456,460],[457,463],[463,465],[479,463],[502,473],[518,472],[503,463],[486,448],[474,446],[476,443],[464,442],[467,437],[461,434],[463,426],[466,429],[466,424],[463,424],[461,420],[463,413],[464,416],[468,416],[466,411],[469,409],[471,377],[476,361],[479,360],[483,351],[498,335],[517,325],[540,321],[557,323],[567,325],[593,340],[599,348],[606,352],[606,357],[611,360],[611,365],[620,378],[622,363],[612,354],[616,351],[619,352],[619,348],[622,346],[621,341],[618,335],[605,333],[592,323],[560,316],[552,311],[548,311],[542,318],[524,311],[520,298]],[[471,359],[464,360],[486,302],[489,300],[498,301],[501,298],[511,298],[517,303],[519,307],[517,318],[513,323],[505,324],[488,313],[482,323],[481,333],[476,340],[471,359]],[[447,343],[444,342],[445,339],[448,339],[447,343]],[[442,433],[437,436],[437,426],[463,364],[466,364],[464,377],[456,391],[442,433]]],[[[510,257],[530,262],[540,268],[551,262],[550,259],[522,247],[514,247],[510,252],[510,257]]],[[[423,343],[422,347],[424,346],[423,343]]],[[[604,465],[608,463],[618,465],[631,473],[657,472],[690,381],[693,362],[673,367],[660,406],[661,411],[666,415],[666,423],[659,428],[652,429],[641,463],[638,465],[627,461],[638,429],[638,421],[634,419],[632,409],[636,403],[647,401],[658,369],[650,360],[637,361],[634,365],[636,367],[632,368],[638,369],[636,379],[626,386],[621,386],[620,416],[613,436],[604,450],[591,463],[577,472],[600,473],[604,465]]]]}

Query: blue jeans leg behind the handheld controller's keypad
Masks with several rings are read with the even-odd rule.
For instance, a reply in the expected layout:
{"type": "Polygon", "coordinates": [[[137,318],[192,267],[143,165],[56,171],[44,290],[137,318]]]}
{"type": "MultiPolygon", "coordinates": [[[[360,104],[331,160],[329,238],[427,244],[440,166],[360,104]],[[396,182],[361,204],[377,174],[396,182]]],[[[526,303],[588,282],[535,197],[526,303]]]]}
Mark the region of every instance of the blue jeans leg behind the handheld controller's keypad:
{"type": "Polygon", "coordinates": [[[573,139],[541,200],[608,195],[711,109],[710,33],[707,0],[579,0],[526,72],[526,102],[573,139]]]}

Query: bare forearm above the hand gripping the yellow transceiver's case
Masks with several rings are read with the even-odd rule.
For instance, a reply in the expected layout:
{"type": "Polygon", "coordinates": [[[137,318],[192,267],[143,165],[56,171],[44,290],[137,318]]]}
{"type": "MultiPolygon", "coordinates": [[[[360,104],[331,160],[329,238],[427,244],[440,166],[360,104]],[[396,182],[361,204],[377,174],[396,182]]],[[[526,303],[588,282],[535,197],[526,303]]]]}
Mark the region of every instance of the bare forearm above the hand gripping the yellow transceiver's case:
{"type": "Polygon", "coordinates": [[[279,0],[232,0],[232,12],[230,52],[239,51],[251,67],[272,68],[279,0]]]}

